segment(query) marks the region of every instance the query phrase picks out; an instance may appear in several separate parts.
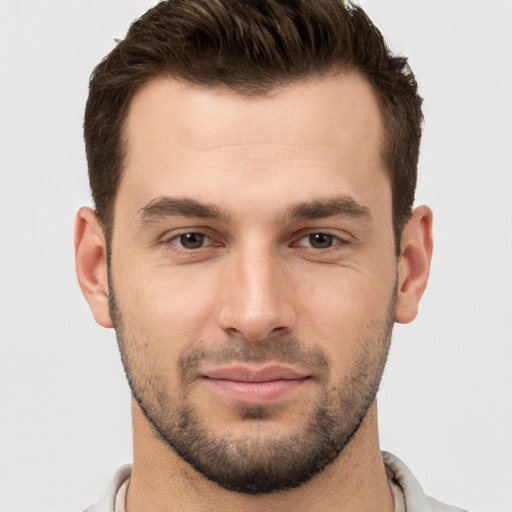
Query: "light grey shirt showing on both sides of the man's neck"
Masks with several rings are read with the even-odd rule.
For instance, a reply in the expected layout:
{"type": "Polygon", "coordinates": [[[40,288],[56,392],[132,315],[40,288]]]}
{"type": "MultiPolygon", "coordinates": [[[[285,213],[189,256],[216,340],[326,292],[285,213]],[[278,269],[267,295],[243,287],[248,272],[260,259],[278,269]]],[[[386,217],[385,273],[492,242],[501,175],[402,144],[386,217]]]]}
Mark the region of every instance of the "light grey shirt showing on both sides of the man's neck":
{"type": "MultiPolygon", "coordinates": [[[[406,512],[467,512],[427,496],[410,469],[393,454],[382,452],[382,458],[386,465],[388,478],[391,478],[403,492],[406,512]]],[[[84,512],[114,512],[117,492],[123,482],[130,477],[131,471],[131,465],[119,468],[101,499],[84,512]]]]}

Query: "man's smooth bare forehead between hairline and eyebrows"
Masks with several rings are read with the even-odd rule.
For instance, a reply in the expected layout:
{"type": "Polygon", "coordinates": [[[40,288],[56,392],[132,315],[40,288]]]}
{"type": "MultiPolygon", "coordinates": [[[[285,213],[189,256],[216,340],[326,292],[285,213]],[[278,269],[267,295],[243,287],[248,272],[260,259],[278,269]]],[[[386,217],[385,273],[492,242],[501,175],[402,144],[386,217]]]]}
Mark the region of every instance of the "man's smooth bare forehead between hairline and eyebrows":
{"type": "Polygon", "coordinates": [[[118,198],[129,185],[141,205],[165,194],[218,202],[227,190],[305,201],[340,177],[348,190],[339,192],[357,196],[368,183],[388,185],[381,138],[375,93],[357,72],[261,96],[154,79],[130,106],[118,198]]]}

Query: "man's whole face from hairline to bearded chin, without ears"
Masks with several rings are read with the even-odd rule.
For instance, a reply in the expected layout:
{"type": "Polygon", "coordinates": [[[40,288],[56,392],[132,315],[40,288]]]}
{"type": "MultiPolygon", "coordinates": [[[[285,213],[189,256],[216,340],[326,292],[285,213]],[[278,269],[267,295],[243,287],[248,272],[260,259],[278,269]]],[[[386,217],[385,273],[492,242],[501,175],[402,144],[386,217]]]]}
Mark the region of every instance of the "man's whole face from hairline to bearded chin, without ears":
{"type": "Polygon", "coordinates": [[[155,80],[134,98],[111,310],[132,392],[206,477],[289,488],[372,404],[397,262],[382,122],[356,73],[263,97],[155,80]]]}

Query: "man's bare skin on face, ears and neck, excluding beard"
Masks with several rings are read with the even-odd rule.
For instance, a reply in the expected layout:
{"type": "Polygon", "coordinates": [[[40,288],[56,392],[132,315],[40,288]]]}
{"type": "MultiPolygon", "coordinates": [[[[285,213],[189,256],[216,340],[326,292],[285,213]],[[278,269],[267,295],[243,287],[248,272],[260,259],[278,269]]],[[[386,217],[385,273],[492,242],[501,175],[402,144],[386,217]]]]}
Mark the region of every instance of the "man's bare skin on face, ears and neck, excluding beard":
{"type": "MultiPolygon", "coordinates": [[[[179,397],[179,361],[198,346],[215,351],[233,339],[258,344],[293,336],[326,356],[328,382],[294,363],[311,378],[272,402],[265,418],[242,421],[244,401],[204,379],[193,379],[187,390],[214,434],[261,443],[300,434],[313,405],[360,371],[369,351],[375,365],[384,361],[386,347],[378,348],[377,338],[390,307],[391,319],[413,320],[428,279],[427,207],[414,211],[395,254],[382,120],[371,86],[345,72],[247,98],[157,79],[133,99],[127,135],[111,280],[123,329],[139,354],[139,375],[151,364],[169,396],[179,397]],[[162,198],[193,199],[222,215],[171,215],[162,198]],[[319,218],[291,215],[299,204],[333,198],[363,214],[344,208],[319,218]],[[165,215],[151,208],[155,203],[165,215]],[[206,234],[203,246],[180,246],[180,235],[198,232],[206,234]],[[314,233],[332,235],[332,245],[313,247],[314,233]]],[[[75,247],[94,317],[112,327],[106,242],[88,208],[78,212],[75,247]]],[[[135,400],[132,412],[128,512],[393,510],[375,401],[332,464],[297,488],[259,496],[205,479],[155,434],[135,400]]]]}

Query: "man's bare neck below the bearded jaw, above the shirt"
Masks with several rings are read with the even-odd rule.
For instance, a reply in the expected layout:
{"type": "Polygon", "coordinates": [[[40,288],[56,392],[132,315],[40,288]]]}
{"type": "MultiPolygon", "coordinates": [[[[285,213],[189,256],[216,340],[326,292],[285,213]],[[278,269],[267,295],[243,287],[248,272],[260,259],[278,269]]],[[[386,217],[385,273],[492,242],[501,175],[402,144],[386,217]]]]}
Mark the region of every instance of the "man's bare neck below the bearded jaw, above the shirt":
{"type": "Polygon", "coordinates": [[[156,436],[135,401],[132,414],[134,463],[127,512],[393,511],[375,403],[343,452],[320,474],[295,489],[257,496],[231,492],[210,482],[156,436]]]}

